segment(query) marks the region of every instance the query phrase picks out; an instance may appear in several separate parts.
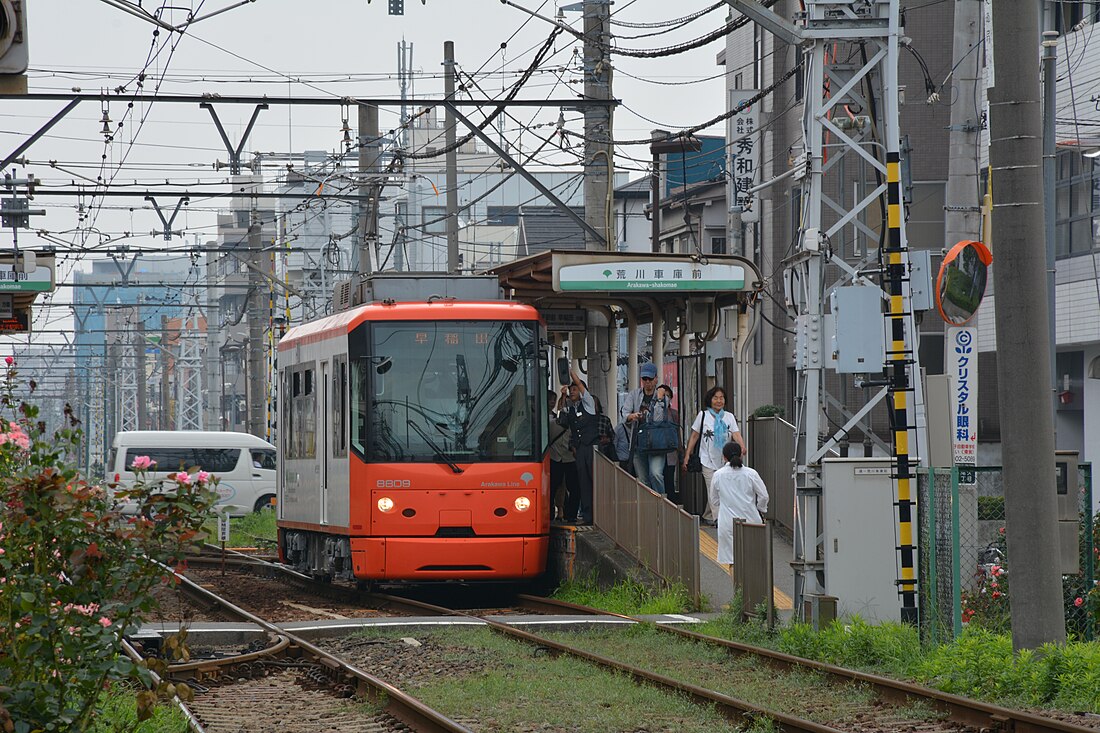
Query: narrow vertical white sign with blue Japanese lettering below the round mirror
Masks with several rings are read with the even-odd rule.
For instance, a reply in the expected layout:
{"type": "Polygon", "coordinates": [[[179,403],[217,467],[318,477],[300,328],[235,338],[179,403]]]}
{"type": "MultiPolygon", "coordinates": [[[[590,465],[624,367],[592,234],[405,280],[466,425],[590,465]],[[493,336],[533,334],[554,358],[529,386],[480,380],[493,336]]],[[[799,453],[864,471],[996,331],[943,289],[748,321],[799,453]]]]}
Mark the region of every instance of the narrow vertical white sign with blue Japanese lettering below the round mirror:
{"type": "Polygon", "coordinates": [[[977,483],[978,466],[978,329],[947,329],[947,374],[952,378],[953,462],[959,484],[977,483]]]}

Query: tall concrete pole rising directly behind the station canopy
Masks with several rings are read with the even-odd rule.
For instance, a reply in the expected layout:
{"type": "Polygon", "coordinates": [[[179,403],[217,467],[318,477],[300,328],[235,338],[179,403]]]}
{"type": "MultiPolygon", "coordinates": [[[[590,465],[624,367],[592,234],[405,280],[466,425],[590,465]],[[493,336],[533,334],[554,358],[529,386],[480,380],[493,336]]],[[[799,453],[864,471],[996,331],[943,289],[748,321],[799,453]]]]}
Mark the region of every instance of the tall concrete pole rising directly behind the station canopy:
{"type": "MultiPolygon", "coordinates": [[[[612,99],[610,0],[584,0],[584,96],[586,99],[612,99]]],[[[604,233],[597,241],[584,234],[584,249],[610,249],[615,237],[608,220],[612,179],[610,106],[584,108],[584,220],[604,233]]]]}

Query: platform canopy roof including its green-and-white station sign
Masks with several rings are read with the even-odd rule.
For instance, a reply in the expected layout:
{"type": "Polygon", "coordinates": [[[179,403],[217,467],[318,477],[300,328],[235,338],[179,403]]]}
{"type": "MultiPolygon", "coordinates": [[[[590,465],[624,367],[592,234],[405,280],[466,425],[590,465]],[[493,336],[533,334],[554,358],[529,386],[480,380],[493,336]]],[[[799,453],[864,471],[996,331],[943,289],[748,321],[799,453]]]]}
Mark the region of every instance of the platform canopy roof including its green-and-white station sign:
{"type": "Polygon", "coordinates": [[[548,251],[488,271],[513,298],[543,311],[594,305],[628,306],[638,322],[653,307],[718,308],[744,303],[760,288],[760,273],[745,258],[649,252],[548,251]]]}

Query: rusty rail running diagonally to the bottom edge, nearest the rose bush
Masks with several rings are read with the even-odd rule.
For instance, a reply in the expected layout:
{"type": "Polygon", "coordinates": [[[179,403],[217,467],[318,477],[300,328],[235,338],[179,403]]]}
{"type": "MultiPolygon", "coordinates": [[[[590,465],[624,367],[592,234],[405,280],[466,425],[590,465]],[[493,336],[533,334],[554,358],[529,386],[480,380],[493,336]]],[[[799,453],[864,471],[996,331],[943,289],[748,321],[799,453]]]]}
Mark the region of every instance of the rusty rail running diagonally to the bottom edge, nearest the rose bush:
{"type": "MultiPolygon", "coordinates": [[[[180,579],[182,583],[188,587],[189,593],[195,593],[220,605],[226,611],[233,613],[243,621],[258,626],[270,634],[285,636],[289,639],[294,648],[300,649],[306,655],[316,659],[332,675],[341,675],[348,680],[353,680],[360,693],[365,693],[365,697],[369,697],[372,700],[385,700],[385,712],[414,730],[428,731],[431,733],[472,733],[470,729],[429,708],[421,701],[417,700],[404,690],[394,687],[389,682],[386,682],[370,672],[363,671],[362,669],[358,669],[339,657],[334,657],[320,647],[310,644],[306,639],[296,636],[295,634],[292,634],[233,603],[230,603],[226,599],[211,593],[185,576],[176,573],[176,577],[180,579]]],[[[213,668],[216,665],[213,663],[207,665],[208,668],[213,668]]]]}

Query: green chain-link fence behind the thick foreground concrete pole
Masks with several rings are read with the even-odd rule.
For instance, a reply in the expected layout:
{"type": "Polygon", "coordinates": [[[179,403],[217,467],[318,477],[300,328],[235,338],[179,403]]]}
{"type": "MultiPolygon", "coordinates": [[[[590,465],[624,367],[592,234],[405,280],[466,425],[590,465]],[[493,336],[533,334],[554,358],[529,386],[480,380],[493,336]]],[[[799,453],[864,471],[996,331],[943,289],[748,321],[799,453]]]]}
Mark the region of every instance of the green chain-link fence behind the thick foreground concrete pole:
{"type": "MultiPolygon", "coordinates": [[[[921,632],[930,642],[948,642],[969,623],[1011,631],[1002,472],[979,468],[972,478],[960,484],[958,469],[928,469],[917,481],[921,632]]],[[[1100,637],[1100,515],[1092,515],[1092,467],[1080,464],[1077,478],[1076,502],[1066,496],[1077,516],[1059,522],[1062,584],[1067,633],[1091,641],[1100,637]]]]}

